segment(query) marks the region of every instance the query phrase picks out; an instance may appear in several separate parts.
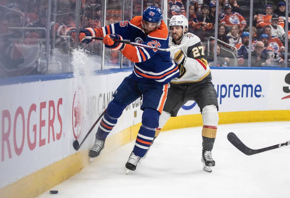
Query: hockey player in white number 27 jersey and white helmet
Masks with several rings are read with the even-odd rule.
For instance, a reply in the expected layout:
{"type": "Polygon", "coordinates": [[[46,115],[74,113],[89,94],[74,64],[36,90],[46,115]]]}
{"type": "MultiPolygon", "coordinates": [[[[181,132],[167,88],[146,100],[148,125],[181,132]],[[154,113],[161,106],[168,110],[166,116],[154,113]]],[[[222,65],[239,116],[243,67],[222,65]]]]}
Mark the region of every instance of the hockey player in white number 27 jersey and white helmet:
{"type": "Polygon", "coordinates": [[[211,150],[215,142],[218,125],[218,100],[211,82],[211,70],[208,66],[201,40],[187,32],[188,20],[183,15],[175,15],[169,21],[172,39],[169,45],[179,49],[170,51],[171,58],[178,64],[180,76],[170,82],[167,99],[159,117],[159,127],[155,138],[170,116],[175,117],[187,101],[195,101],[202,114],[202,159],[203,169],[211,172],[215,161],[211,150]]]}

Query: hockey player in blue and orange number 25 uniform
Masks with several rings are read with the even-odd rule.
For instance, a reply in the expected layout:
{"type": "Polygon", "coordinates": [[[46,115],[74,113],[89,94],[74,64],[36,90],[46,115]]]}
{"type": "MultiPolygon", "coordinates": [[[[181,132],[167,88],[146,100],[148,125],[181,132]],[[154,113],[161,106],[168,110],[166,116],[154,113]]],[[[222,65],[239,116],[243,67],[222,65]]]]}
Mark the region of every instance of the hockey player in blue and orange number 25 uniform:
{"type": "Polygon", "coordinates": [[[117,124],[117,119],[125,107],[142,96],[142,125],[134,149],[125,165],[127,169],[135,170],[138,161],[152,143],[155,129],[159,125],[159,115],[166,101],[169,82],[179,76],[179,69],[170,59],[169,52],[117,43],[114,39],[129,39],[131,42],[141,41],[148,46],[169,48],[168,30],[162,21],[162,12],[159,8],[150,6],[142,16],[136,16],[130,21],[98,29],[81,30],[79,40],[82,43],[89,43],[92,40],[85,39],[85,36],[103,37],[103,43],[107,48],[120,50],[135,63],[133,73],[123,80],[114,92],[114,99],[108,104],[107,112],[96,132],[95,143],[89,151],[89,157],[95,158],[100,155],[107,135],[117,124]]]}

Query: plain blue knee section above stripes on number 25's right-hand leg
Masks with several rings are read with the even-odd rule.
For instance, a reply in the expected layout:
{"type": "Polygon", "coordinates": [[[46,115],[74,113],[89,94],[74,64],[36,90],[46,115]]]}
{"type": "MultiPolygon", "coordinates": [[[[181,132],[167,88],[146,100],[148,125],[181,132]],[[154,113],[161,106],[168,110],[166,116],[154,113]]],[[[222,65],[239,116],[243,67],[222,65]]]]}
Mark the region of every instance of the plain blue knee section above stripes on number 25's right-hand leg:
{"type": "Polygon", "coordinates": [[[145,108],[142,114],[142,124],[146,127],[157,128],[159,112],[155,109],[145,108]]]}

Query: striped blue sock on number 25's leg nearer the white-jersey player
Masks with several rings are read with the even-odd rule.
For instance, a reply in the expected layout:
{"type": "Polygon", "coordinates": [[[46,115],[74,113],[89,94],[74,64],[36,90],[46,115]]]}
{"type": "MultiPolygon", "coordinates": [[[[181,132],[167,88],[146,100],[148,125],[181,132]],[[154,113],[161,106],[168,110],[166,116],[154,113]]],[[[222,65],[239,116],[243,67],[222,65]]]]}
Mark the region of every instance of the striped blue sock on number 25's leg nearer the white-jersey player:
{"type": "Polygon", "coordinates": [[[139,157],[143,157],[150,148],[158,127],[159,112],[155,109],[145,108],[142,114],[142,125],[138,131],[133,152],[139,157]]]}

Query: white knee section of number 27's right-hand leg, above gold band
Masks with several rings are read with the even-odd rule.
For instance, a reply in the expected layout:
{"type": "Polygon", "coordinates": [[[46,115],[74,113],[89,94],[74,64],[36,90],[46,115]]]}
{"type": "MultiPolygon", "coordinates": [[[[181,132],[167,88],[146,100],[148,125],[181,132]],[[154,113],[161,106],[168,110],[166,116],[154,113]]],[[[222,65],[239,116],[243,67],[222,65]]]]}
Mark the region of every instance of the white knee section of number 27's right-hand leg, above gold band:
{"type": "Polygon", "coordinates": [[[206,126],[218,126],[218,109],[214,104],[202,109],[202,122],[206,126]]]}

